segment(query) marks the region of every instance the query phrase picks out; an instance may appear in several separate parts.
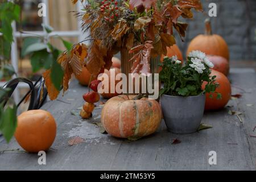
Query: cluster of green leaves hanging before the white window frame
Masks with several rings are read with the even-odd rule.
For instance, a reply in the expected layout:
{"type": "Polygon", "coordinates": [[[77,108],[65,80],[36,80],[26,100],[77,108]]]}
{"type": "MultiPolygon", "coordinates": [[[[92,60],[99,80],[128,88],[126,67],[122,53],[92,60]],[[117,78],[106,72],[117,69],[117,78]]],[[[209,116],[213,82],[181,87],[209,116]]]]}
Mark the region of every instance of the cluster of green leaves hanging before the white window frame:
{"type": "MultiPolygon", "coordinates": [[[[44,24],[42,26],[47,35],[44,37],[38,35],[24,39],[21,54],[22,57],[30,56],[32,71],[34,73],[40,71],[40,69],[50,69],[52,84],[57,90],[61,90],[64,71],[57,60],[62,51],[49,42],[49,34],[52,33],[53,28],[44,24]]],[[[52,37],[60,39],[68,52],[72,49],[72,43],[57,35],[52,37]]]]}

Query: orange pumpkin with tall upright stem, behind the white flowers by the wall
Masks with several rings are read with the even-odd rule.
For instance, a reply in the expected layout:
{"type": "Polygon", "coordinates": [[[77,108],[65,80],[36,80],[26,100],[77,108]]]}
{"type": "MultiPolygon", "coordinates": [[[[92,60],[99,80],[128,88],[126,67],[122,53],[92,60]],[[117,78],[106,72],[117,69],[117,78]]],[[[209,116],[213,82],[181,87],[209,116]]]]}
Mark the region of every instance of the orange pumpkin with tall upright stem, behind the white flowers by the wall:
{"type": "Polygon", "coordinates": [[[191,51],[202,51],[207,55],[225,57],[229,61],[229,48],[225,40],[216,34],[212,34],[210,20],[205,20],[205,35],[198,35],[188,46],[187,55],[191,51]]]}

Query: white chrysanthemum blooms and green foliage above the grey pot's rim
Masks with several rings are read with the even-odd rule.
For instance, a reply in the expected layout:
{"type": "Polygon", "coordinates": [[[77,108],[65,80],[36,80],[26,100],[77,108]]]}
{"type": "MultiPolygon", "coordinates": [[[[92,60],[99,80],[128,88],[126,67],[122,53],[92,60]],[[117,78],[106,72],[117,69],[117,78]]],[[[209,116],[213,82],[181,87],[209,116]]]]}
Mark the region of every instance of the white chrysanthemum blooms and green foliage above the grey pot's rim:
{"type": "MultiPolygon", "coordinates": [[[[210,76],[213,64],[207,59],[205,53],[193,51],[189,54],[185,65],[177,57],[164,57],[160,72],[160,80],[164,82],[160,95],[170,96],[197,96],[204,93],[215,93],[218,86],[216,76],[210,76]],[[203,82],[208,84],[202,90],[203,82]]],[[[218,98],[221,95],[218,94],[218,98]]]]}

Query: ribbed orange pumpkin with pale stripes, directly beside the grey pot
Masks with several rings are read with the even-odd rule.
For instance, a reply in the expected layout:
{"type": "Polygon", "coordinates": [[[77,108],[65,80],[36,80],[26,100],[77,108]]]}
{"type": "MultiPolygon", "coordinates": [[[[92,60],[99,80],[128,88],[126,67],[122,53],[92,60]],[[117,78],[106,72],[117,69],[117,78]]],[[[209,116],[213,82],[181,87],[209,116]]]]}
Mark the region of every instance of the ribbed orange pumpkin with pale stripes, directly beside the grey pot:
{"type": "Polygon", "coordinates": [[[105,130],[118,138],[144,137],[154,133],[161,121],[162,111],[155,100],[121,95],[106,102],[101,112],[105,130]]]}

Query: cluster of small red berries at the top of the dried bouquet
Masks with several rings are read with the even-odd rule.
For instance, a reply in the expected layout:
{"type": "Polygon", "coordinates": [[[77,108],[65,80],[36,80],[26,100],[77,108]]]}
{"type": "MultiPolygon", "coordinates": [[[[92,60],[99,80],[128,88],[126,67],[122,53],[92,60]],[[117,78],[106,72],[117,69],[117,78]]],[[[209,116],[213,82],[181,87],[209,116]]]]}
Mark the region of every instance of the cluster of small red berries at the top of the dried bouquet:
{"type": "Polygon", "coordinates": [[[105,14],[105,20],[108,22],[118,18],[118,2],[115,0],[104,0],[101,2],[101,12],[105,14]]]}

